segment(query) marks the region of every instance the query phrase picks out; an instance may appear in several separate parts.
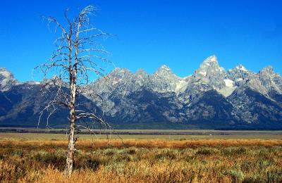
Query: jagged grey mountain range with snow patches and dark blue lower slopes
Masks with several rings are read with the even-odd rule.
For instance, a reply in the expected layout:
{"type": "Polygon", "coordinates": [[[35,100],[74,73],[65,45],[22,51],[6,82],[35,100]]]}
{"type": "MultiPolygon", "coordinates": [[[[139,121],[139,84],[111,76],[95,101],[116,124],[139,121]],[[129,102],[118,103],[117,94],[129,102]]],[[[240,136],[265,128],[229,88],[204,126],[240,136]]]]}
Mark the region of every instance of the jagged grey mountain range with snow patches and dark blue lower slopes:
{"type": "MultiPolygon", "coordinates": [[[[41,87],[0,68],[0,126],[36,126],[47,102],[41,87]]],[[[243,65],[225,70],[216,56],[187,77],[166,65],[153,74],[115,68],[79,100],[117,128],[282,129],[282,77],[271,66],[257,73],[243,65]]],[[[68,124],[67,116],[62,109],[50,125],[68,124]]]]}

